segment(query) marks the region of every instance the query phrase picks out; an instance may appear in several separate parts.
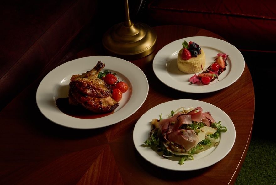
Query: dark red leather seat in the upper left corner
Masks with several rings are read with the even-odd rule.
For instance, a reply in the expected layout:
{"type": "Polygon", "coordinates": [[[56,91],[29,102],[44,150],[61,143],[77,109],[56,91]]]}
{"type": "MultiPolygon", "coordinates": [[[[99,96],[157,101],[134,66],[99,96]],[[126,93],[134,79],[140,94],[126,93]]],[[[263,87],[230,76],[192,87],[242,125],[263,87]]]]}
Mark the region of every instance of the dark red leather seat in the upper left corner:
{"type": "Polygon", "coordinates": [[[0,2],[0,110],[45,66],[61,61],[96,6],[89,0],[0,2]]]}

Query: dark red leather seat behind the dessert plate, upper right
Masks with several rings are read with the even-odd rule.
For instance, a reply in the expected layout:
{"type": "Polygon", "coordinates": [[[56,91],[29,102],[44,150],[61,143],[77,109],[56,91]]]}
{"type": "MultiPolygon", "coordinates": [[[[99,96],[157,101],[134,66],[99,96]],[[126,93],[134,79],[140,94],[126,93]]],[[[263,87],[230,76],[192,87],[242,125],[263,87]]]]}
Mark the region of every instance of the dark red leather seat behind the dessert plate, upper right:
{"type": "Polygon", "coordinates": [[[151,26],[200,27],[219,34],[239,50],[276,52],[274,0],[152,0],[145,8],[151,26]]]}

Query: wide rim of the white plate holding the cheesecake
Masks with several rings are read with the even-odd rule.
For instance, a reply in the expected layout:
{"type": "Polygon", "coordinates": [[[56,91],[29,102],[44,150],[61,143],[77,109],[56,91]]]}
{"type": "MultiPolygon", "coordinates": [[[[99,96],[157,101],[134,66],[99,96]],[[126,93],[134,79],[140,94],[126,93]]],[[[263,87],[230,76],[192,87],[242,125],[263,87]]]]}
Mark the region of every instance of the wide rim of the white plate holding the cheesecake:
{"type": "MultiPolygon", "coordinates": [[[[205,55],[207,56],[208,53],[205,52],[205,55]]],[[[175,40],[175,41],[173,41],[173,42],[165,45],[164,47],[162,47],[157,52],[157,54],[155,55],[155,57],[153,59],[152,67],[153,67],[153,71],[154,71],[154,74],[156,75],[156,77],[162,83],[164,83],[165,85],[167,85],[168,87],[171,87],[171,88],[173,88],[175,90],[182,91],[182,92],[185,92],[185,93],[210,93],[210,92],[215,92],[215,91],[221,90],[223,88],[229,87],[234,82],[236,82],[241,77],[241,75],[242,75],[242,73],[244,71],[245,61],[244,61],[244,58],[243,58],[243,55],[241,54],[241,52],[234,45],[232,45],[232,44],[230,44],[230,43],[228,43],[228,42],[226,42],[224,40],[221,40],[221,39],[218,39],[218,38],[214,38],[214,37],[207,37],[207,36],[193,36],[193,37],[185,37],[185,38],[182,38],[182,39],[175,40]],[[225,49],[227,54],[230,53],[229,54],[229,58],[230,59],[228,59],[228,60],[231,60],[231,58],[233,58],[234,60],[231,61],[231,62],[236,62],[236,64],[239,65],[239,67],[237,67],[237,68],[233,68],[233,67],[235,67],[233,65],[230,66],[230,67],[232,67],[232,69],[231,69],[232,72],[229,71],[229,73],[231,73],[231,75],[234,74],[234,77],[227,77],[226,79],[229,82],[227,82],[226,84],[225,83],[219,83],[219,82],[218,83],[212,83],[212,84],[209,84],[209,85],[200,85],[200,86],[199,85],[195,86],[196,85],[195,84],[194,86],[192,86],[192,88],[191,87],[187,88],[186,85],[183,86],[184,83],[183,84],[170,83],[171,81],[168,80],[170,78],[170,76],[169,76],[168,71],[167,71],[167,66],[164,66],[164,68],[162,69],[164,71],[158,71],[157,70],[158,69],[157,66],[158,66],[158,64],[162,63],[162,62],[160,62],[162,60],[166,61],[166,65],[167,65],[168,61],[172,61],[173,59],[176,60],[177,54],[178,54],[179,50],[181,49],[181,43],[184,40],[186,40],[186,41],[187,40],[193,40],[193,41],[199,43],[199,45],[204,45],[204,44],[200,43],[201,41],[208,42],[208,43],[210,43],[211,46],[215,42],[219,42],[220,46],[228,47],[229,48],[228,50],[225,49]],[[170,54],[167,56],[165,54],[168,51],[170,51],[169,52],[170,54]],[[235,61],[236,58],[238,58],[239,61],[235,61]]],[[[207,68],[207,67],[208,66],[205,66],[205,68],[207,68]]],[[[193,74],[188,74],[188,75],[189,75],[189,77],[193,76],[193,74]]],[[[188,78],[186,80],[188,81],[188,78]]],[[[189,84],[189,85],[191,85],[191,84],[189,84]]]]}

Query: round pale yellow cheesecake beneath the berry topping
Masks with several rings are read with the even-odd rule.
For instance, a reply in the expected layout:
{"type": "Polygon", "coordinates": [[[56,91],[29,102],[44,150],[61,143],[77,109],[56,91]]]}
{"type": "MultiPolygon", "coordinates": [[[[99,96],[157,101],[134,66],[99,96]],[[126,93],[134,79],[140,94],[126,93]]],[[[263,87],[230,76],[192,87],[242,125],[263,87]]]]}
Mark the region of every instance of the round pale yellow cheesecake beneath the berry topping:
{"type": "Polygon", "coordinates": [[[191,57],[189,60],[183,60],[181,53],[184,48],[182,48],[177,55],[177,67],[180,71],[187,74],[195,74],[200,71],[201,65],[202,68],[205,67],[205,53],[201,48],[201,54],[197,55],[197,57],[191,57]]]}

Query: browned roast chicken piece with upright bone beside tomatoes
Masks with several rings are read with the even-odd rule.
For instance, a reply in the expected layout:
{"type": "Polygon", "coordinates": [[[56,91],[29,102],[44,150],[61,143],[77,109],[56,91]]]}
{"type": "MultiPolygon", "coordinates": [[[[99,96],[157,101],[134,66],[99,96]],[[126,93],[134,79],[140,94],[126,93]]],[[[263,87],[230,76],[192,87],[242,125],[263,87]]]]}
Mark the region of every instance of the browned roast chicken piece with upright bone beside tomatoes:
{"type": "Polygon", "coordinates": [[[111,98],[108,85],[98,78],[105,64],[98,61],[90,71],[81,75],[73,75],[69,83],[69,104],[82,105],[94,113],[114,111],[119,103],[111,98]]]}

